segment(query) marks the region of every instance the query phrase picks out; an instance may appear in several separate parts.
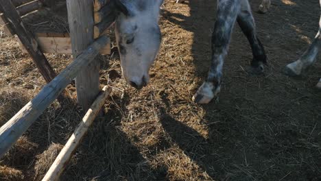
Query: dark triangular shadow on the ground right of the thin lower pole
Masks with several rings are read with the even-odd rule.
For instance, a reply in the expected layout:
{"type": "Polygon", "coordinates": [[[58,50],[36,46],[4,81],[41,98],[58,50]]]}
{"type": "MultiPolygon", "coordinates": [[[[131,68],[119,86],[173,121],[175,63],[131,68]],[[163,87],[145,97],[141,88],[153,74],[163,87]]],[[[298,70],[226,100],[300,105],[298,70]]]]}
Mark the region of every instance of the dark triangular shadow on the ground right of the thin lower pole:
{"type": "Polygon", "coordinates": [[[152,167],[121,129],[129,100],[114,95],[113,103],[105,105],[107,113],[88,130],[62,180],[168,180],[167,168],[152,167]]]}

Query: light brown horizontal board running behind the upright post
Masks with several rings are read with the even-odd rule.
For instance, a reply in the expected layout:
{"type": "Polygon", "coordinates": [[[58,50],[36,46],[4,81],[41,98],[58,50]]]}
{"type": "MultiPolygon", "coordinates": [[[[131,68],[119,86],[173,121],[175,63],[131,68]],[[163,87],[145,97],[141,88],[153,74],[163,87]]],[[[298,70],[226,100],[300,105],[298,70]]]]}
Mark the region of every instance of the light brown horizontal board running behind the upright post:
{"type": "MultiPolygon", "coordinates": [[[[36,40],[43,53],[58,53],[58,54],[72,54],[71,38],[64,34],[36,34],[36,40]],[[67,37],[64,37],[67,36],[67,37]]],[[[16,37],[23,53],[27,53],[27,50],[23,47],[21,41],[16,37]]],[[[107,45],[99,51],[102,55],[110,54],[110,39],[108,38],[107,45]]]]}

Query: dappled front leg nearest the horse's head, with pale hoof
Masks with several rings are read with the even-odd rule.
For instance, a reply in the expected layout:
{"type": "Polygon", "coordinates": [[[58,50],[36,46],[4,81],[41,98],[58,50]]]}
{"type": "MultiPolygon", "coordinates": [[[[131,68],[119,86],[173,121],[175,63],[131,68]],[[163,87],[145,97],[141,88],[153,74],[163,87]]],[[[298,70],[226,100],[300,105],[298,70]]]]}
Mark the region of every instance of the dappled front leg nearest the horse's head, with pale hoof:
{"type": "Polygon", "coordinates": [[[206,81],[193,96],[193,101],[198,104],[208,104],[220,91],[224,58],[240,8],[239,0],[217,1],[217,3],[217,21],[212,34],[211,67],[206,81]]]}

